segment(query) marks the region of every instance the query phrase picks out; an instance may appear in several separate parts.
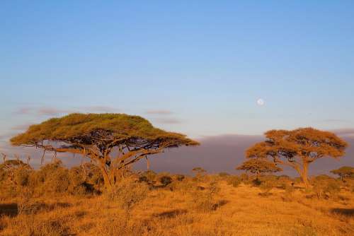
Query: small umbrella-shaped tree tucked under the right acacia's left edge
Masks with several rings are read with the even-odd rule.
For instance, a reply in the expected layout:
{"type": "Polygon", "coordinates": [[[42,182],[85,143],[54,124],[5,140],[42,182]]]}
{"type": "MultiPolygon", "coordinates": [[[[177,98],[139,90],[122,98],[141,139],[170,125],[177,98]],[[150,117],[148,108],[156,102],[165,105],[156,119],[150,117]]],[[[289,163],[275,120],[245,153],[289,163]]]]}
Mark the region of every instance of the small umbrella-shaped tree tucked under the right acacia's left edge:
{"type": "Polygon", "coordinates": [[[245,170],[246,172],[250,172],[253,175],[256,175],[259,181],[259,176],[261,174],[279,172],[282,171],[282,168],[278,167],[275,163],[270,162],[269,160],[255,158],[246,160],[239,167],[236,167],[236,170],[245,170]]]}

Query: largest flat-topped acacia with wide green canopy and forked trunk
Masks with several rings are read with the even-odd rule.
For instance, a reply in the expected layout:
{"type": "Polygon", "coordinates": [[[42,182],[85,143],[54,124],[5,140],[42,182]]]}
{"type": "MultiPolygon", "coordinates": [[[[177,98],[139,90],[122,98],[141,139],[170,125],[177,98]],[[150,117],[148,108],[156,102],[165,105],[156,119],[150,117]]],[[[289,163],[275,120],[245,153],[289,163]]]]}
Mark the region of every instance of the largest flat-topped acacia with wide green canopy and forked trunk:
{"type": "MultiPolygon", "coordinates": [[[[105,187],[118,182],[122,170],[164,148],[195,146],[183,134],[156,129],[142,117],[128,114],[69,114],[35,124],[11,138],[14,146],[42,148],[91,158],[101,168],[105,187]]],[[[43,153],[43,156],[44,156],[43,153]]]]}

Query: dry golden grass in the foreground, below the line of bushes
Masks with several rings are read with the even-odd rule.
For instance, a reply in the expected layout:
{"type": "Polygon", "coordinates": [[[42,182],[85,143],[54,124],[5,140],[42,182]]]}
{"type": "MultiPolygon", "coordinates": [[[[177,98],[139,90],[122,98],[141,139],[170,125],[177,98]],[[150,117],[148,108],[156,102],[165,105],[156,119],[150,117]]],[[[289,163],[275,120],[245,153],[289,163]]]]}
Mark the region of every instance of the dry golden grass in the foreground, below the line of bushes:
{"type": "Polygon", "coordinates": [[[0,235],[354,235],[353,193],[343,189],[324,200],[300,190],[260,196],[222,179],[179,184],[147,190],[130,208],[105,195],[62,195],[30,199],[18,213],[21,199],[2,199],[0,235]]]}

